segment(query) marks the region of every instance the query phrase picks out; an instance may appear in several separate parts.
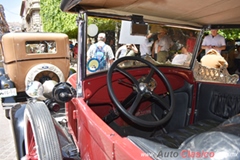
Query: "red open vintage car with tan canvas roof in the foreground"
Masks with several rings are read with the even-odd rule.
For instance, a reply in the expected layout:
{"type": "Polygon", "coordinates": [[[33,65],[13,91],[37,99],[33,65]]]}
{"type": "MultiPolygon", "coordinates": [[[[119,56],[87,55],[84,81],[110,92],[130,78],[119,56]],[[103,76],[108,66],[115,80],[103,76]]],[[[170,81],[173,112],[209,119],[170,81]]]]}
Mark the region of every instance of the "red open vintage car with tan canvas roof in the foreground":
{"type": "Polygon", "coordinates": [[[235,43],[225,65],[197,59],[205,31],[239,31],[239,8],[236,0],[62,0],[62,11],[79,14],[77,73],[28,84],[32,98],[11,109],[18,158],[240,159],[239,76],[228,70],[235,43]],[[138,52],[129,56],[128,46],[138,52]],[[65,113],[49,111],[49,101],[65,113]]]}

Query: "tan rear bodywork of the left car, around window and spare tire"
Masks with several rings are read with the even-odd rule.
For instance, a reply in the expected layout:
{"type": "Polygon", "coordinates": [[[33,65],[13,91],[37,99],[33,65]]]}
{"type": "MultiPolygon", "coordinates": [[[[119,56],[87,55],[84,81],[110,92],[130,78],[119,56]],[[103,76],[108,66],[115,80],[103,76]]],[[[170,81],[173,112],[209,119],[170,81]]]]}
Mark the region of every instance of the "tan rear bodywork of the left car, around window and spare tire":
{"type": "MultiPolygon", "coordinates": [[[[14,82],[17,92],[25,91],[25,78],[36,65],[51,64],[69,76],[69,40],[62,33],[7,33],[2,37],[3,66],[5,73],[14,82]],[[55,42],[55,53],[35,53],[27,51],[27,42],[55,42]]],[[[57,74],[57,73],[56,73],[57,74]]]]}

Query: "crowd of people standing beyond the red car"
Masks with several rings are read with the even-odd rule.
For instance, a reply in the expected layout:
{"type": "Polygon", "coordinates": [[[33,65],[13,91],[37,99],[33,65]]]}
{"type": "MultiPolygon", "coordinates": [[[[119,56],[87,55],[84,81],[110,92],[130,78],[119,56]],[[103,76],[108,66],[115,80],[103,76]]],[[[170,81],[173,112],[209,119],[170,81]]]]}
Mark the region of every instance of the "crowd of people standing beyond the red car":
{"type": "MultiPolygon", "coordinates": [[[[101,68],[106,69],[114,60],[124,56],[140,56],[145,58],[146,56],[152,57],[159,63],[166,63],[170,61],[174,65],[186,65],[189,66],[192,53],[196,43],[196,37],[193,31],[189,31],[188,36],[184,44],[178,46],[178,51],[174,54],[170,53],[171,47],[174,45],[174,41],[168,35],[166,28],[160,28],[155,33],[149,31],[144,41],[139,44],[123,44],[115,52],[114,40],[111,39],[109,44],[106,44],[106,34],[99,33],[96,43],[92,43],[89,38],[87,42],[87,57],[88,60],[96,58],[101,62],[101,68]],[[103,67],[104,66],[104,67],[103,67]]],[[[71,56],[77,58],[78,55],[78,43],[73,45],[72,41],[69,41],[69,47],[71,56]]],[[[210,34],[206,35],[201,44],[201,50],[204,54],[201,55],[199,61],[202,65],[207,67],[219,68],[221,66],[228,66],[227,60],[222,57],[221,52],[226,49],[226,40],[223,36],[218,34],[217,29],[211,29],[210,34]]],[[[237,72],[240,73],[240,47],[236,50],[236,59],[234,62],[237,65],[237,72]]],[[[199,55],[200,56],[200,55],[199,55]]]]}

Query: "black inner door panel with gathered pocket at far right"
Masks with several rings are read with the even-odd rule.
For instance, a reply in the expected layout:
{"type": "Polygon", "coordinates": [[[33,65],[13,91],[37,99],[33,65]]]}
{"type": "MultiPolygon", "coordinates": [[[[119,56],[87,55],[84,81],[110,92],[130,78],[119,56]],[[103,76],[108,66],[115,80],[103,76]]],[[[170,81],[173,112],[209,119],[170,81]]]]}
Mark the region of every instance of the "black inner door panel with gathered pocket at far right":
{"type": "Polygon", "coordinates": [[[195,121],[214,119],[224,121],[238,114],[239,87],[199,83],[195,121]]]}

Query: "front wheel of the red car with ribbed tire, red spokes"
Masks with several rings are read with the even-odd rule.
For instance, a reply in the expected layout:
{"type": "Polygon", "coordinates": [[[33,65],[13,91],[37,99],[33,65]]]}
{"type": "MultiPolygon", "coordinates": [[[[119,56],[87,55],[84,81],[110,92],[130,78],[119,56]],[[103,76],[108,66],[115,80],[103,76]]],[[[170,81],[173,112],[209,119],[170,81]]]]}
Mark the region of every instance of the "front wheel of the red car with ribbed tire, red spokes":
{"type": "Polygon", "coordinates": [[[24,158],[62,159],[52,116],[43,102],[29,103],[24,111],[24,158]]]}

